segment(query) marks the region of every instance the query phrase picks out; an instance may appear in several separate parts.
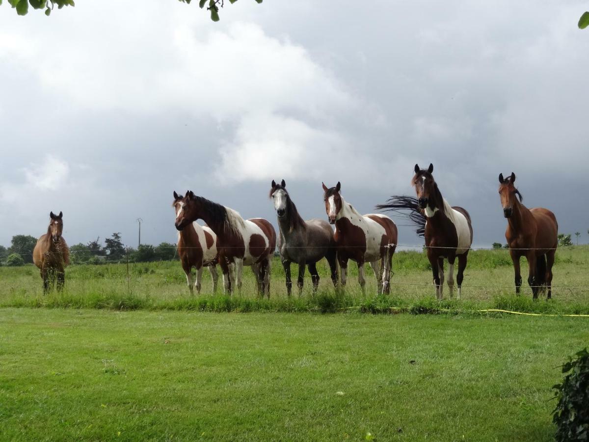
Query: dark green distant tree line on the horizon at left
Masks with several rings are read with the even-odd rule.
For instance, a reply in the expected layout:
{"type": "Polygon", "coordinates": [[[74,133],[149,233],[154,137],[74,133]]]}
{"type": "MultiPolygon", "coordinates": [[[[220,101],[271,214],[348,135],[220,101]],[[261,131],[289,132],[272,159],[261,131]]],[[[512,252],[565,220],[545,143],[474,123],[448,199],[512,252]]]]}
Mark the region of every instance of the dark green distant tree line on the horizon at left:
{"type": "MultiPolygon", "coordinates": [[[[19,266],[33,262],[33,249],[37,238],[31,235],[15,235],[11,245],[0,246],[0,265],[19,266]]],[[[127,247],[121,240],[121,233],[112,233],[110,238],[100,241],[100,236],[87,243],[70,246],[72,264],[104,264],[115,262],[153,262],[178,259],[176,244],[167,242],[158,246],[141,244],[138,248],[127,247]]]]}

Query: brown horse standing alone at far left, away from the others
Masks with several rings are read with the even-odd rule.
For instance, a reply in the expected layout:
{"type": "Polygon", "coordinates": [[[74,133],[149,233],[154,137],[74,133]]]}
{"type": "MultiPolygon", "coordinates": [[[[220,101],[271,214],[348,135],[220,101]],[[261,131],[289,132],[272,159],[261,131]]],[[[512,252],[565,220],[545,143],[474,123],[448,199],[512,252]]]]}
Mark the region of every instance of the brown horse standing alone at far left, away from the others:
{"type": "Polygon", "coordinates": [[[61,236],[64,230],[63,216],[63,212],[59,212],[59,215],[49,213],[47,233],[39,237],[33,249],[33,262],[41,269],[44,294],[49,292],[49,284],[55,283],[56,276],[58,291],[64,288],[65,267],[70,265],[70,249],[61,236]]]}

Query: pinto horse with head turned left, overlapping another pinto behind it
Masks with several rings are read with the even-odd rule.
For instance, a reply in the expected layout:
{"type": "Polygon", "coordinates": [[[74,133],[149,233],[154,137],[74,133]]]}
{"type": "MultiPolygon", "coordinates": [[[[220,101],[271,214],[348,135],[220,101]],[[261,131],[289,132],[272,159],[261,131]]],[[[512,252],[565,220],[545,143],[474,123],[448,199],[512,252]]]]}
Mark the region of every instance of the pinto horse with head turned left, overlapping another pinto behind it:
{"type": "Polygon", "coordinates": [[[231,294],[235,287],[241,291],[241,273],[247,265],[256,275],[257,293],[270,298],[270,268],[276,249],[272,224],[263,218],[244,220],[235,210],[196,196],[191,190],[179,202],[176,229],[202,219],[216,233],[224,292],[231,294]]]}

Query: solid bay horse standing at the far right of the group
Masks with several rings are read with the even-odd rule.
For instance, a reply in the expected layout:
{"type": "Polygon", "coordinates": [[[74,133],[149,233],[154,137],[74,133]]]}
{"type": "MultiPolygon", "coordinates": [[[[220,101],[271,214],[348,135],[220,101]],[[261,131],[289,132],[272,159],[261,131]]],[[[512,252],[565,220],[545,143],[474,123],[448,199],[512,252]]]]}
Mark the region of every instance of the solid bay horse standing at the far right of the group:
{"type": "Polygon", "coordinates": [[[534,299],[541,286],[548,287],[547,299],[552,297],[552,265],[558,246],[558,223],[554,213],[544,207],[528,209],[524,198],[514,186],[515,173],[506,179],[499,174],[499,196],[503,215],[507,218],[505,239],[515,269],[515,293],[521,289],[519,258],[528,260],[528,284],[534,299]],[[518,200],[519,197],[519,200],[518,200]]]}

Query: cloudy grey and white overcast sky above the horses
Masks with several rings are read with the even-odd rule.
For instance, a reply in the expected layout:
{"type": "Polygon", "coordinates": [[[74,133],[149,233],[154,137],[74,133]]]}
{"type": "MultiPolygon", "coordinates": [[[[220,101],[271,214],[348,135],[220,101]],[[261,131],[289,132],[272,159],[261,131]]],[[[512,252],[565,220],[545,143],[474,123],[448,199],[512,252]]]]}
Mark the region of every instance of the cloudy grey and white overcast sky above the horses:
{"type": "MultiPolygon", "coordinates": [[[[589,229],[586,1],[77,2],[0,6],[0,244],[64,212],[70,245],[176,242],[174,190],[276,226],[285,179],[326,219],[321,182],[360,212],[414,194],[413,166],[504,242],[498,174],[560,232],[589,229]],[[337,6],[336,6],[337,5],[337,6]]],[[[397,220],[398,224],[404,224],[397,220]]],[[[418,244],[401,227],[399,243],[418,244]]]]}

